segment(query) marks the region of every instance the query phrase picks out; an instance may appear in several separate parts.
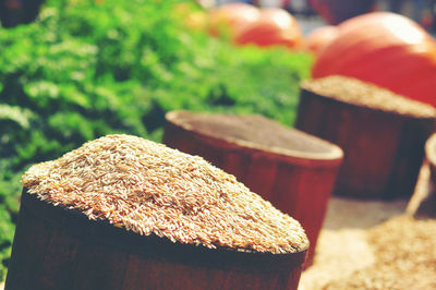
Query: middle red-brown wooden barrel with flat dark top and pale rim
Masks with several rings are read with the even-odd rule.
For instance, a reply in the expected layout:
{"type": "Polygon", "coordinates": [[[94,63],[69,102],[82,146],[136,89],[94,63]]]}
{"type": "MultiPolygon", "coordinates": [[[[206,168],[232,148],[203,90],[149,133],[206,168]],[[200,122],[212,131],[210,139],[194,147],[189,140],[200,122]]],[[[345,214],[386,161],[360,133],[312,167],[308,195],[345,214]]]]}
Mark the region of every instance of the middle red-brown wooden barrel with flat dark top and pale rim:
{"type": "Polygon", "coordinates": [[[234,174],[301,222],[311,242],[310,265],[342,150],[262,116],[173,111],[166,119],[164,143],[234,174]]]}

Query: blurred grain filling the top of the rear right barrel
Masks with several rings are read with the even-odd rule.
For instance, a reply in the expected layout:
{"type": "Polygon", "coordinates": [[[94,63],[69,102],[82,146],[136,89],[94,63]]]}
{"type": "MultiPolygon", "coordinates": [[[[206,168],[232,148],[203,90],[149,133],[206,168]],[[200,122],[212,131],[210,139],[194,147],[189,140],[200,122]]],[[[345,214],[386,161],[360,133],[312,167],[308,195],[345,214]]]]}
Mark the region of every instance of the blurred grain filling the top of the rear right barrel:
{"type": "Polygon", "coordinates": [[[305,81],[301,86],[324,97],[372,109],[419,118],[434,118],[436,116],[436,110],[429,105],[352,77],[331,75],[305,81]]]}

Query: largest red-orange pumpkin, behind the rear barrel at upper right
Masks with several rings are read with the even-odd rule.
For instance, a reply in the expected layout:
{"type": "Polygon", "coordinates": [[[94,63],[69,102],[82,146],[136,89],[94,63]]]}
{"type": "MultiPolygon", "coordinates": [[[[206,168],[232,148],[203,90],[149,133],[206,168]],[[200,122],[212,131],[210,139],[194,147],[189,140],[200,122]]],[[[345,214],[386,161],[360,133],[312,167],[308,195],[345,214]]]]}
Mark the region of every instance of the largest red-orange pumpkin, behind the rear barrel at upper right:
{"type": "Polygon", "coordinates": [[[421,26],[402,15],[374,12],[338,27],[313,77],[352,76],[436,106],[436,41],[421,26]]]}

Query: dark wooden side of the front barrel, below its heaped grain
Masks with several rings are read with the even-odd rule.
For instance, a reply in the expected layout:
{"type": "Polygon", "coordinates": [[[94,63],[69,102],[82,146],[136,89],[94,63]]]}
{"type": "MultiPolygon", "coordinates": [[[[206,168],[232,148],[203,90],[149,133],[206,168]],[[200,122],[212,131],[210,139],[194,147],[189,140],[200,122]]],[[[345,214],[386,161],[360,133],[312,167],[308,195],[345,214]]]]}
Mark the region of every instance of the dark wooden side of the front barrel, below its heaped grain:
{"type": "Polygon", "coordinates": [[[5,289],[296,289],[305,254],[172,243],[24,190],[5,289]]]}

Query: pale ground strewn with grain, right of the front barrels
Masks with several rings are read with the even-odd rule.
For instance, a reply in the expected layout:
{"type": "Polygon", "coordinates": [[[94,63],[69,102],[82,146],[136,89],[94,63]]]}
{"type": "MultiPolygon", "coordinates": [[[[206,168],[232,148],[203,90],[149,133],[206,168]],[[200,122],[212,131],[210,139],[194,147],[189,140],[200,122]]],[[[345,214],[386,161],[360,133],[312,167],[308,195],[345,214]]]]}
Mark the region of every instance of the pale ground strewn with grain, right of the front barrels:
{"type": "Polygon", "coordinates": [[[332,196],[299,290],[436,289],[436,219],[404,216],[407,207],[332,196]]]}

